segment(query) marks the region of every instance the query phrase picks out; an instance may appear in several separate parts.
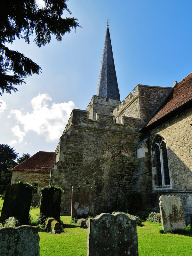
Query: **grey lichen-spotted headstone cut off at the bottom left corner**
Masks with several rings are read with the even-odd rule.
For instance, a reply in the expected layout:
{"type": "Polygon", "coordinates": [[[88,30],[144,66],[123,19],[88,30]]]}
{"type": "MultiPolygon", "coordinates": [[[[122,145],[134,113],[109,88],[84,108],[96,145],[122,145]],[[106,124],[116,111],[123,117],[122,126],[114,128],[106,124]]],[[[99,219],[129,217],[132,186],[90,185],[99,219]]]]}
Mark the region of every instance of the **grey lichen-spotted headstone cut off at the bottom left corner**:
{"type": "Polygon", "coordinates": [[[38,226],[0,228],[0,255],[39,256],[38,226]]]}

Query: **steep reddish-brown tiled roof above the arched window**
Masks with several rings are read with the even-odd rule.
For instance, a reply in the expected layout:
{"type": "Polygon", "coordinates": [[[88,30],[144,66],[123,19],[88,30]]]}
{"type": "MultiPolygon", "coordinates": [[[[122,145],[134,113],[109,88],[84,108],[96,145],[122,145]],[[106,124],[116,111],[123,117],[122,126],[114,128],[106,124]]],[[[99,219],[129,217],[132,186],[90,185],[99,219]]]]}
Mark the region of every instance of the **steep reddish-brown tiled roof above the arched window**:
{"type": "MultiPolygon", "coordinates": [[[[173,87],[164,103],[157,110],[156,114],[150,119],[145,127],[154,124],[157,120],[176,111],[182,105],[192,99],[192,73],[173,87]]],[[[144,128],[145,128],[144,127],[144,128]]]]}

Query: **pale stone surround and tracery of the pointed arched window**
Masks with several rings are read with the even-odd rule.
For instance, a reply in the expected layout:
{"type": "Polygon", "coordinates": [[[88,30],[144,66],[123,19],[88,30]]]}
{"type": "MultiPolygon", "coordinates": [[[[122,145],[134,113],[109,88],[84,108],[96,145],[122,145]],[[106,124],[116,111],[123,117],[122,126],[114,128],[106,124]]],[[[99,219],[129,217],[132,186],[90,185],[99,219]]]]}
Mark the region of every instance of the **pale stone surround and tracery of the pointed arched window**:
{"type": "MultiPolygon", "coordinates": [[[[160,134],[157,134],[153,140],[152,143],[152,159],[153,159],[153,163],[152,163],[152,183],[153,183],[153,190],[170,190],[172,189],[172,179],[171,179],[171,172],[170,172],[170,168],[169,168],[169,159],[168,159],[168,154],[167,154],[167,164],[168,164],[168,171],[169,171],[169,180],[170,180],[170,185],[165,185],[165,179],[164,179],[164,165],[163,165],[163,152],[162,152],[162,144],[165,143],[166,145],[166,150],[167,150],[167,143],[164,139],[164,137],[160,134]],[[156,140],[159,139],[159,142],[157,142],[156,140]],[[155,145],[158,146],[159,148],[159,154],[160,154],[160,164],[161,164],[161,178],[162,178],[162,185],[159,186],[157,185],[157,181],[156,181],[156,156],[155,156],[155,145]]],[[[168,151],[167,151],[168,153],[168,151]]]]}

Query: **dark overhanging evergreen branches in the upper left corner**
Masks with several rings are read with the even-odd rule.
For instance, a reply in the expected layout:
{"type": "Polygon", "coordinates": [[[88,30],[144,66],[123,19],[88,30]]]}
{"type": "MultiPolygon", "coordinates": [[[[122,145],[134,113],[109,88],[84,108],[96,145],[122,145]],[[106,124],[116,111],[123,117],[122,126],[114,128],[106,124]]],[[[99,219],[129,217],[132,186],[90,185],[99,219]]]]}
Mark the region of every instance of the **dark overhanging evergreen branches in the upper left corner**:
{"type": "Polygon", "coordinates": [[[71,14],[68,0],[43,0],[45,7],[38,8],[36,0],[1,0],[0,8],[0,95],[18,91],[16,85],[25,83],[24,78],[39,74],[40,67],[18,51],[12,51],[7,44],[16,38],[23,38],[29,44],[29,37],[38,47],[48,44],[54,35],[61,41],[71,28],[80,27],[74,17],[62,18],[63,11],[71,14]]]}

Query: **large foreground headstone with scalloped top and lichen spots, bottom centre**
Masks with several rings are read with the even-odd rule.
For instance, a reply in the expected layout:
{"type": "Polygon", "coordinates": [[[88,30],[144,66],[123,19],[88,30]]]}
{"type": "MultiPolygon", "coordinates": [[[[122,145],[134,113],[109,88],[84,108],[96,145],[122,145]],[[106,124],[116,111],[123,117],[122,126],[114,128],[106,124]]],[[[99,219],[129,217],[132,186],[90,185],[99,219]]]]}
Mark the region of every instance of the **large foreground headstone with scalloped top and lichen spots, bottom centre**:
{"type": "Polygon", "coordinates": [[[126,214],[101,213],[90,219],[87,256],[138,256],[136,220],[126,214]]]}

